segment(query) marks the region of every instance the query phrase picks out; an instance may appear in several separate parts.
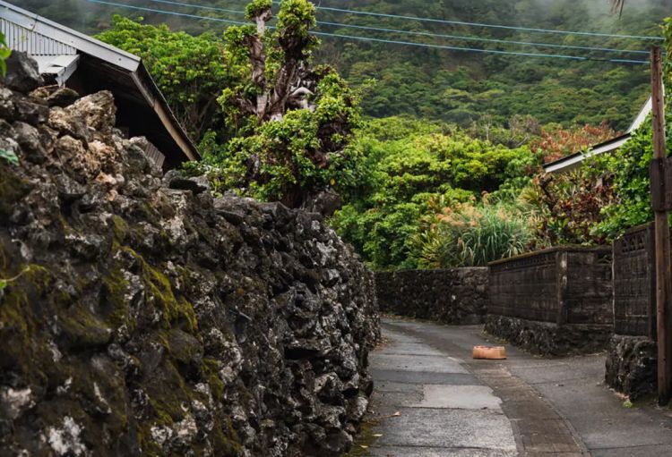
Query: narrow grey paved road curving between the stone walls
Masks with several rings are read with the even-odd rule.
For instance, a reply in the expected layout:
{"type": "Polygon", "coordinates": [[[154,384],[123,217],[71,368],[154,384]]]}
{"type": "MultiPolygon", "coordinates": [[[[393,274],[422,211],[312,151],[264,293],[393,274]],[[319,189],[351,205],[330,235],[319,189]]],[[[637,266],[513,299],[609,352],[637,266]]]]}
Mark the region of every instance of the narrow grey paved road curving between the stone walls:
{"type": "Polygon", "coordinates": [[[472,360],[480,326],[383,319],[367,451],[383,457],[672,455],[672,413],[627,409],[600,355],[472,360]]]}

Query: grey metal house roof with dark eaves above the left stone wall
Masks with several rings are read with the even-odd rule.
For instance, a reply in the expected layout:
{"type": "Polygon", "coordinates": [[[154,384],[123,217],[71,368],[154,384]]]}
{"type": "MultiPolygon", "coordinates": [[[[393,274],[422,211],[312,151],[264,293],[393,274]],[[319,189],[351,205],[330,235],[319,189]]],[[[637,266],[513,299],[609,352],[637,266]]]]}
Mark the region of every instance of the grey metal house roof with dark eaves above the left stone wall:
{"type": "Polygon", "coordinates": [[[84,72],[86,91],[110,90],[120,113],[133,122],[133,134],[146,136],[167,156],[169,166],[199,157],[166,99],[137,55],[69,29],[0,0],[0,31],[7,46],[38,61],[39,70],[67,80],[84,72]]]}

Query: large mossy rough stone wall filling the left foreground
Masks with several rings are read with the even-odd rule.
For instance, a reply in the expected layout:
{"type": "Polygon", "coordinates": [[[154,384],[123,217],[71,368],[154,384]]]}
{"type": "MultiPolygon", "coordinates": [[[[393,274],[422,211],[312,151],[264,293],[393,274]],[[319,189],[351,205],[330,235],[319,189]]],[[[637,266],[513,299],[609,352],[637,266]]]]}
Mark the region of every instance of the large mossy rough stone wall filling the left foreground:
{"type": "Polygon", "coordinates": [[[0,157],[0,454],[347,448],[378,335],[349,247],[321,216],[164,181],[108,92],[33,94],[0,85],[20,160],[0,157]]]}

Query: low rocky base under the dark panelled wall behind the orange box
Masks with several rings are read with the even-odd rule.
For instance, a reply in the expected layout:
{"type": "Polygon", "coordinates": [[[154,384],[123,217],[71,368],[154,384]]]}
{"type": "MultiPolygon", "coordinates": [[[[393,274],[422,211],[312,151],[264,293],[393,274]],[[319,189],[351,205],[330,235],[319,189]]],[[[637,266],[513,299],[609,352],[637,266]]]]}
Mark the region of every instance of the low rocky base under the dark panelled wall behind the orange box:
{"type": "Polygon", "coordinates": [[[565,324],[488,314],[485,330],[526,351],[545,356],[590,354],[604,351],[611,326],[565,324]]]}

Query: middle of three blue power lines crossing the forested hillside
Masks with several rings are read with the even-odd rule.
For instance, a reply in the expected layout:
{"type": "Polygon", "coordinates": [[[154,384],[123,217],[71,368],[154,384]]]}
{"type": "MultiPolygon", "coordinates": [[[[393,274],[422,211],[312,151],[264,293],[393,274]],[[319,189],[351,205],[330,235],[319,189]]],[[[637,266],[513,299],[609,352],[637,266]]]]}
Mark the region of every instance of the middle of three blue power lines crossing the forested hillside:
{"type": "MultiPolygon", "coordinates": [[[[227,8],[219,8],[215,6],[208,6],[204,4],[186,4],[184,2],[175,2],[171,0],[150,0],[151,2],[159,3],[159,4],[175,4],[178,6],[188,6],[192,8],[200,8],[204,10],[212,10],[212,11],[220,11],[224,13],[233,13],[233,14],[243,14],[245,15],[245,12],[243,11],[238,11],[238,10],[229,10],[227,8]]],[[[401,33],[401,34],[406,34],[406,35],[415,35],[415,36],[421,36],[421,37],[431,37],[431,38],[451,38],[451,39],[461,39],[465,41],[483,41],[487,43],[502,43],[502,44],[509,44],[509,45],[521,45],[521,46],[532,46],[532,47],[556,47],[556,48],[561,48],[561,49],[579,49],[582,51],[601,51],[601,52],[609,52],[609,53],[628,53],[628,54],[642,54],[642,55],[649,55],[649,51],[639,51],[639,50],[634,50],[634,49],[616,49],[612,47],[585,47],[585,46],[578,46],[578,45],[560,45],[560,44],[555,44],[555,43],[536,43],[536,42],[530,42],[530,41],[516,41],[516,40],[510,40],[510,39],[497,39],[497,38],[482,38],[482,37],[474,37],[474,36],[463,36],[463,35],[445,35],[441,33],[431,33],[431,32],[420,32],[420,31],[412,31],[412,30],[398,30],[398,29],[385,29],[385,28],[379,28],[379,27],[369,27],[369,26],[364,26],[364,25],[356,25],[356,24],[345,24],[341,22],[330,22],[330,21],[317,21],[318,24],[320,25],[328,25],[332,27],[344,27],[348,29],[359,29],[359,30],[372,30],[372,31],[382,31],[382,32],[390,32],[390,33],[401,33]]]]}

